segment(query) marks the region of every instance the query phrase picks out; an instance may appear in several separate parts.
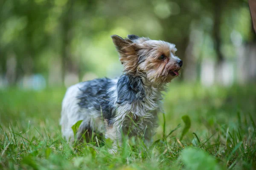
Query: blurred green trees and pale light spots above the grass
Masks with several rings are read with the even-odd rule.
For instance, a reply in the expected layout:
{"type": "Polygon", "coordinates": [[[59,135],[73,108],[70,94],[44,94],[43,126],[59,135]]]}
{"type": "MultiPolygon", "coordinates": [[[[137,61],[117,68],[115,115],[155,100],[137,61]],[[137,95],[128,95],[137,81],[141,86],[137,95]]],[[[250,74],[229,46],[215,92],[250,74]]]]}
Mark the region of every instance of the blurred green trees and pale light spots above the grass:
{"type": "Polygon", "coordinates": [[[184,67],[175,81],[256,82],[247,0],[1,0],[0,88],[119,76],[112,34],[176,44],[184,67]]]}

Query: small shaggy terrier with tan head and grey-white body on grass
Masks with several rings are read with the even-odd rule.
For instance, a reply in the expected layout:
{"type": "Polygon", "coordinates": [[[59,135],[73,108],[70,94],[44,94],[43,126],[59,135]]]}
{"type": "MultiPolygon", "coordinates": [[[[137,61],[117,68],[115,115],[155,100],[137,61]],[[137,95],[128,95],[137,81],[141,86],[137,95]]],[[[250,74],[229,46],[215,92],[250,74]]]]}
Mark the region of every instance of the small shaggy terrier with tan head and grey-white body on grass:
{"type": "Polygon", "coordinates": [[[75,140],[71,127],[79,120],[83,120],[76,135],[80,141],[103,133],[117,143],[123,133],[150,142],[157,112],[162,111],[161,91],[179,75],[182,60],[175,56],[174,44],[136,35],[111,37],[123,75],[80,82],[67,89],[60,124],[63,136],[71,142],[75,140]]]}

